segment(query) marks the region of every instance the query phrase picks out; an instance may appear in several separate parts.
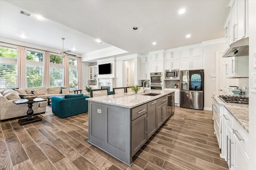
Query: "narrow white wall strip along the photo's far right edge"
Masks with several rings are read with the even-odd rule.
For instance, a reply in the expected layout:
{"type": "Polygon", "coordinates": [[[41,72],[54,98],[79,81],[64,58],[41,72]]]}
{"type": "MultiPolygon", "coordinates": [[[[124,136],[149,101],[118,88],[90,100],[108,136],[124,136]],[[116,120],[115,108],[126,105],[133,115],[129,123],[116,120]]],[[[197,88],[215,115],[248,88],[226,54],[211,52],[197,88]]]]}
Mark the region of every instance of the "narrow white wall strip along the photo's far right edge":
{"type": "MultiPolygon", "coordinates": [[[[249,16],[249,81],[250,74],[256,73],[256,69],[253,68],[254,56],[253,50],[256,49],[256,1],[249,0],[248,2],[248,16],[249,16]]],[[[251,84],[249,82],[249,89],[251,84]]],[[[249,167],[250,170],[256,169],[256,93],[249,91],[249,167]]]]}

